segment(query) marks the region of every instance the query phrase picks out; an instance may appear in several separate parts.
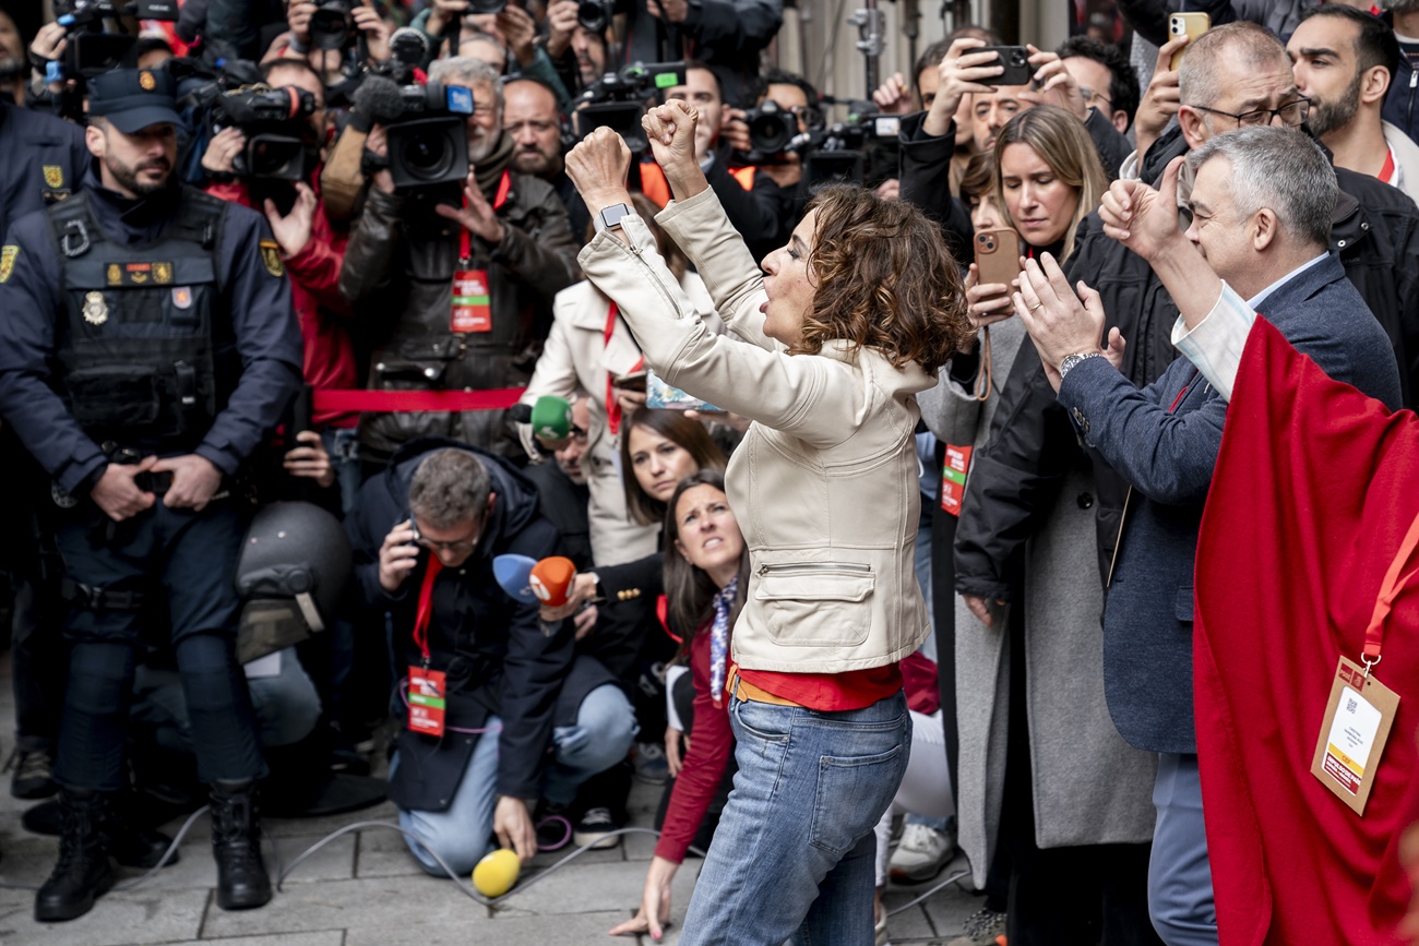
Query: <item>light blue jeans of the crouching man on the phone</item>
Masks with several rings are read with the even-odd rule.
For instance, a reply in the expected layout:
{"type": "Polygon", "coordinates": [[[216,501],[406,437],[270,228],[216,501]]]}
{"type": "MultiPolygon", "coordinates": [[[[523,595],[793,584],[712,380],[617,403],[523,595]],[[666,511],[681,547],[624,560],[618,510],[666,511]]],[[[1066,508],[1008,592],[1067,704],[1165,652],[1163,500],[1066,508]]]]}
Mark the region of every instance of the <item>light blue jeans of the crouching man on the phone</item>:
{"type": "MultiPolygon", "coordinates": [[[[426,871],[446,877],[433,850],[457,874],[468,874],[497,844],[492,841],[492,810],[498,801],[498,733],[501,720],[488,716],[487,732],[478,738],[468,760],[468,770],[444,811],[399,810],[399,827],[414,834],[404,842],[426,871]]],[[[576,712],[575,726],[552,729],[552,762],[542,781],[548,801],[570,804],[576,786],[597,772],[610,769],[626,757],[636,738],[636,713],[614,684],[597,686],[586,695],[576,712]]],[[[399,753],[390,762],[390,774],[399,766],[399,753]]]]}

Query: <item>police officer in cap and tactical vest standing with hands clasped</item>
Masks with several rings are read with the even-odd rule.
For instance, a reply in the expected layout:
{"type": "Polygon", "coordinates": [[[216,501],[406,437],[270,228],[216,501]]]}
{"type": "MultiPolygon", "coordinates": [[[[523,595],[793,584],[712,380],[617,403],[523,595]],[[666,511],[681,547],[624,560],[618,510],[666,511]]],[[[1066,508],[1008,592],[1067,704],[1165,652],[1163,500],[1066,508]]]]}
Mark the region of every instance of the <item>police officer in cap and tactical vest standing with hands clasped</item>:
{"type": "Polygon", "coordinates": [[[54,479],[72,591],[60,861],[34,913],[72,919],[112,885],[109,806],[139,623],[155,613],[170,621],[211,786],[217,903],[260,906],[265,764],[233,647],[241,518],[227,496],[301,383],[291,286],[260,214],[176,182],[165,69],[95,78],[89,122],[85,189],[17,221],[0,248],[0,413],[54,479]]]}

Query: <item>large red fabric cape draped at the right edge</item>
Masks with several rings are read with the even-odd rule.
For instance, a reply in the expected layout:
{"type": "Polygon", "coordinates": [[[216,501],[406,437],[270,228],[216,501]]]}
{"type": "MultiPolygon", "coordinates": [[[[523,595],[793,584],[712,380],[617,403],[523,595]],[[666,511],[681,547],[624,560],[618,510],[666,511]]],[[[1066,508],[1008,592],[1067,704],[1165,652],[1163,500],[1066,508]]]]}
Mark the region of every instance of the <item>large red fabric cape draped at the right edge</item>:
{"type": "Polygon", "coordinates": [[[1359,661],[1416,512],[1415,414],[1332,382],[1257,319],[1196,566],[1198,755],[1222,946],[1401,942],[1399,834],[1419,814],[1419,580],[1385,623],[1375,675],[1401,701],[1364,818],[1310,766],[1335,664],[1359,661]]]}

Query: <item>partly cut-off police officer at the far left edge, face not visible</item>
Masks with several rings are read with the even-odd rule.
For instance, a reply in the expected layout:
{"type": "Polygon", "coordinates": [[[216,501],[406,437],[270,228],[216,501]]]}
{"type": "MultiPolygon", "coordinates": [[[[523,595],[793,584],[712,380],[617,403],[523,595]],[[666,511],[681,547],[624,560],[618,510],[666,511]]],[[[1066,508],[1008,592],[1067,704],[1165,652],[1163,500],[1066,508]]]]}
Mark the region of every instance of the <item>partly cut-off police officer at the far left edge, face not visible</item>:
{"type": "MultiPolygon", "coordinates": [[[[0,14],[3,16],[3,14],[0,14]]],[[[24,51],[20,47],[20,61],[24,51]]],[[[53,115],[31,112],[0,95],[0,235],[10,221],[55,204],[78,187],[89,166],[84,129],[53,115]]],[[[43,482],[41,471],[24,454],[9,430],[0,431],[0,468],[26,489],[43,482]]],[[[45,486],[47,488],[47,486],[45,486]]],[[[10,793],[18,798],[54,794],[50,767],[64,696],[64,651],[57,628],[60,616],[41,564],[51,559],[35,536],[34,503],[0,508],[0,570],[10,573],[14,589],[11,682],[16,703],[16,760],[10,793]]]]}

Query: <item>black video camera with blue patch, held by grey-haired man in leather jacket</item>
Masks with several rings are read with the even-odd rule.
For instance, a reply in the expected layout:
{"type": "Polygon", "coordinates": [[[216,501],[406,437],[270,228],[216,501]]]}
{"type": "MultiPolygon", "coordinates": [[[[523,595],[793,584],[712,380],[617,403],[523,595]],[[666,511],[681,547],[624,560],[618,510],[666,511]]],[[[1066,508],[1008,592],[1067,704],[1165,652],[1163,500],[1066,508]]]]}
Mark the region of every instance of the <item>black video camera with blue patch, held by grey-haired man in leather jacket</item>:
{"type": "Polygon", "coordinates": [[[386,125],[389,173],[394,187],[429,187],[468,176],[468,132],[473,91],[429,82],[399,89],[403,109],[386,125]]]}

